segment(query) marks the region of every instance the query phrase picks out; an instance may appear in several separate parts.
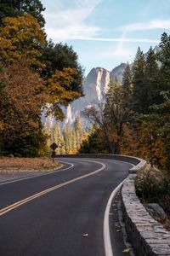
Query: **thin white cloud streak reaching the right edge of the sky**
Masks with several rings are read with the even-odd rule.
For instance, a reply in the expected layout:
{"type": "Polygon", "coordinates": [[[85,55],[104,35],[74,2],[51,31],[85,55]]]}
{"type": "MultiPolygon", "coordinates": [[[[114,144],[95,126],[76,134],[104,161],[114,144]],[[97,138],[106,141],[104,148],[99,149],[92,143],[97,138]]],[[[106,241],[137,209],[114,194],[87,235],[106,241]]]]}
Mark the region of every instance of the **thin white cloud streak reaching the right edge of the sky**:
{"type": "Polygon", "coordinates": [[[123,32],[135,32],[144,31],[151,29],[170,29],[170,20],[151,20],[147,23],[133,23],[126,26],[122,26],[121,30],[123,32]]]}

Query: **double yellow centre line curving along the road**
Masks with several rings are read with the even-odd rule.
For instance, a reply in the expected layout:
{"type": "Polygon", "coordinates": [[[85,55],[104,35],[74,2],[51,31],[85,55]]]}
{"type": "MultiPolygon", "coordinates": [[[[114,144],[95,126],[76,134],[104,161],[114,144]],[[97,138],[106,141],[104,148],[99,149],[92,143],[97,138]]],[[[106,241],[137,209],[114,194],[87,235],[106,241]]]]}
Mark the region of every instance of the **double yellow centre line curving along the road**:
{"type": "MultiPolygon", "coordinates": [[[[99,162],[96,162],[96,163],[99,163],[99,162]]],[[[26,204],[28,201],[32,201],[32,200],[36,199],[37,197],[40,197],[40,196],[45,195],[45,194],[47,194],[47,193],[49,193],[49,192],[51,192],[51,191],[54,191],[55,189],[59,189],[59,188],[61,188],[61,187],[64,187],[65,185],[68,185],[68,184],[70,184],[70,183],[74,183],[74,182],[76,182],[77,180],[80,180],[80,179],[82,179],[82,178],[84,178],[84,177],[92,176],[92,175],[94,175],[94,174],[97,173],[97,172],[103,171],[103,170],[105,169],[105,165],[102,164],[102,163],[99,163],[99,164],[102,165],[102,167],[99,168],[98,170],[94,171],[94,172],[90,172],[90,173],[85,174],[85,175],[82,175],[82,176],[80,176],[80,177],[73,178],[73,179],[71,179],[71,180],[69,180],[69,181],[67,181],[67,182],[65,182],[65,183],[60,183],[59,185],[56,185],[56,186],[51,187],[51,188],[49,188],[49,189],[45,189],[45,190],[43,190],[43,191],[41,191],[41,192],[39,192],[39,193],[37,193],[37,194],[35,194],[35,195],[31,195],[31,196],[29,196],[29,197],[27,197],[27,198],[25,198],[25,199],[23,199],[23,200],[21,200],[21,201],[17,201],[17,202],[15,202],[14,204],[12,204],[12,205],[10,205],[10,206],[8,206],[8,207],[5,207],[5,208],[3,208],[3,209],[1,209],[1,210],[0,210],[0,216],[2,216],[3,214],[5,214],[6,212],[10,212],[10,211],[14,210],[14,209],[17,208],[17,207],[20,207],[21,205],[26,204]]]]}

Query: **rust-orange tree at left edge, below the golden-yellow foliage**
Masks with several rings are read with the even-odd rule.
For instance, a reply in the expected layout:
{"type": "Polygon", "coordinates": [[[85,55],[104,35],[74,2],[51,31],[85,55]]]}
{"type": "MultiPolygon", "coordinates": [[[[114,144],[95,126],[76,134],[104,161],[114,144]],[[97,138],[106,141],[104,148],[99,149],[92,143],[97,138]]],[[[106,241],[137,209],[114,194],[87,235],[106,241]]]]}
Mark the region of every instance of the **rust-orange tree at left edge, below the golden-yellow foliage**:
{"type": "Polygon", "coordinates": [[[5,67],[0,80],[5,84],[0,95],[3,152],[26,156],[42,154],[46,137],[40,117],[45,96],[37,94],[42,80],[23,63],[5,67]]]}

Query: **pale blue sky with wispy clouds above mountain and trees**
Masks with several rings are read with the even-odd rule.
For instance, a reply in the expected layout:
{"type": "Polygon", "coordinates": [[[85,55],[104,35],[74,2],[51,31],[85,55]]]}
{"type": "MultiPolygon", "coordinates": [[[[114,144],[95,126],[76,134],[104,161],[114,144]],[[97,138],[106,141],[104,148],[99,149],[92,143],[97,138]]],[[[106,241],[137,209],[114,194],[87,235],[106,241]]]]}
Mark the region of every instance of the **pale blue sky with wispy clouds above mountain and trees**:
{"type": "Polygon", "coordinates": [[[46,32],[72,45],[86,74],[132,62],[170,32],[170,0],[42,0],[46,32]]]}

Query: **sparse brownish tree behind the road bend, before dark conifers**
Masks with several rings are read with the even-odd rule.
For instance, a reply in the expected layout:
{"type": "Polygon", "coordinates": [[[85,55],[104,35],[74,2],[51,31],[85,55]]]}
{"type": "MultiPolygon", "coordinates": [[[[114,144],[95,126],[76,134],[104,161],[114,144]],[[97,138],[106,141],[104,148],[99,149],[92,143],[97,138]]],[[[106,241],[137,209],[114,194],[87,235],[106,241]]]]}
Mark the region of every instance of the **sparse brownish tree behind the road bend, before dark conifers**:
{"type": "MultiPolygon", "coordinates": [[[[114,153],[120,154],[125,125],[130,121],[133,111],[130,109],[131,90],[130,76],[127,77],[128,66],[123,74],[123,86],[115,81],[105,96],[105,119],[114,133],[114,153]],[[125,83],[126,82],[126,83],[125,83]]],[[[128,73],[130,75],[130,73],[128,73]]]]}

